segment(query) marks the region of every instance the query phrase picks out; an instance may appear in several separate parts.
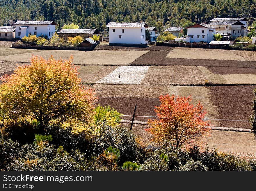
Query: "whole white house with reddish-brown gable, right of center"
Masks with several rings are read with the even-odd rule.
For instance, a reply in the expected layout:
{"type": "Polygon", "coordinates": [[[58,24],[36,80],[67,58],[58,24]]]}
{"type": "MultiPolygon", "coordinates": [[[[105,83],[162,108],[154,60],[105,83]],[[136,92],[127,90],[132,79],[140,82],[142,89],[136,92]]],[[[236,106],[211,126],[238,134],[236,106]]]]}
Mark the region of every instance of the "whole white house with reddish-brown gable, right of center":
{"type": "Polygon", "coordinates": [[[188,35],[186,36],[186,42],[211,42],[214,38],[215,28],[207,24],[193,24],[186,27],[188,29],[188,35]]]}

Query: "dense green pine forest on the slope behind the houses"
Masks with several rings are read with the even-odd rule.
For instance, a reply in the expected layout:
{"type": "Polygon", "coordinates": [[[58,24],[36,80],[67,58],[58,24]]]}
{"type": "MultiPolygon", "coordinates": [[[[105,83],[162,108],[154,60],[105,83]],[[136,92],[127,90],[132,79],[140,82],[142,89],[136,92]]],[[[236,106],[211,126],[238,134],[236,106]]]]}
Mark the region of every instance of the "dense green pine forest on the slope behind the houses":
{"type": "Polygon", "coordinates": [[[108,22],[146,22],[158,31],[214,17],[256,17],[255,0],[1,0],[0,26],[31,20],[54,20],[61,28],[107,31],[108,22]]]}

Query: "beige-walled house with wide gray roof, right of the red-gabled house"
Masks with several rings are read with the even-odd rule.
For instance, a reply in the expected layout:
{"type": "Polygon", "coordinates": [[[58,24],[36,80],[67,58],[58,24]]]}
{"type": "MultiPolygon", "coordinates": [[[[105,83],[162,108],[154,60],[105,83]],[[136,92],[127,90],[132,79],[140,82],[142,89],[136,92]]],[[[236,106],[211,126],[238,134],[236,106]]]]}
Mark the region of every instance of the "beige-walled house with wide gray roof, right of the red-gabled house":
{"type": "Polygon", "coordinates": [[[216,34],[230,33],[234,38],[246,36],[246,27],[240,21],[213,21],[209,25],[215,28],[216,34]]]}

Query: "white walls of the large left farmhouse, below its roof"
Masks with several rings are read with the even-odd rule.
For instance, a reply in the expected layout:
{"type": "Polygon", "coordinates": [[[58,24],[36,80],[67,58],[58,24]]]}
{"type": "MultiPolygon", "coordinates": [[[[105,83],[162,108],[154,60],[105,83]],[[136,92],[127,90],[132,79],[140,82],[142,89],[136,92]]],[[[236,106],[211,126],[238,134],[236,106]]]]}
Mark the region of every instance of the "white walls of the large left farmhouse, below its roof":
{"type": "Polygon", "coordinates": [[[42,34],[42,35],[47,35],[48,38],[51,38],[52,35],[54,35],[54,33],[55,33],[55,25],[52,25],[52,24],[49,24],[49,25],[16,25],[15,37],[23,38],[24,36],[28,36],[29,33],[31,33],[31,35],[33,35],[34,32],[36,32],[37,37],[42,34]],[[22,26],[28,26],[28,28],[21,28],[21,30],[19,30],[19,27],[22,27],[22,26]],[[37,27],[36,30],[35,30],[35,27],[37,27]],[[49,27],[50,27],[50,30],[49,30],[49,27]],[[20,36],[18,35],[19,32],[21,33],[20,36]],[[50,32],[50,35],[49,35],[49,32],[50,32]]]}

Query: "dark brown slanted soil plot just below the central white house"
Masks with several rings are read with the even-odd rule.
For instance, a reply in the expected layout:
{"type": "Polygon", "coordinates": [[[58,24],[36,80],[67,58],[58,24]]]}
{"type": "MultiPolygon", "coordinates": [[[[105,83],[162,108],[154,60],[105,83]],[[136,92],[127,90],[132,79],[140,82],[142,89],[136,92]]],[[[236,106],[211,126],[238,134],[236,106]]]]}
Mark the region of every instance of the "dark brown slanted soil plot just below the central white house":
{"type": "Polygon", "coordinates": [[[159,65],[168,53],[169,51],[149,51],[129,65],[159,65]]]}

